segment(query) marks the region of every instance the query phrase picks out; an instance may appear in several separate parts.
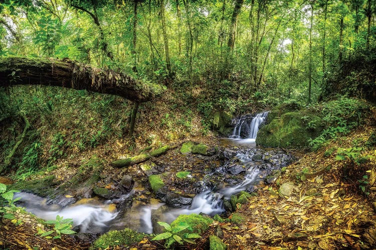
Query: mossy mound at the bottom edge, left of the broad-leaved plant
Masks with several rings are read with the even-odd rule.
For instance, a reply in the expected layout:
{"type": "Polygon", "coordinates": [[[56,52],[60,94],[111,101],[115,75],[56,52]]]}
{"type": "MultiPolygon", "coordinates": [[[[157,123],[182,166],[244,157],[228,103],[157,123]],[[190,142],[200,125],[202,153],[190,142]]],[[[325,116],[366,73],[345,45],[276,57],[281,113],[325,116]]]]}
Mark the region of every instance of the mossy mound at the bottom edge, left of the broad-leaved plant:
{"type": "Polygon", "coordinates": [[[147,234],[142,232],[136,232],[132,229],[125,228],[123,230],[109,231],[102,234],[94,243],[90,246],[90,250],[105,249],[109,246],[122,245],[129,247],[132,244],[140,242],[147,234]]]}

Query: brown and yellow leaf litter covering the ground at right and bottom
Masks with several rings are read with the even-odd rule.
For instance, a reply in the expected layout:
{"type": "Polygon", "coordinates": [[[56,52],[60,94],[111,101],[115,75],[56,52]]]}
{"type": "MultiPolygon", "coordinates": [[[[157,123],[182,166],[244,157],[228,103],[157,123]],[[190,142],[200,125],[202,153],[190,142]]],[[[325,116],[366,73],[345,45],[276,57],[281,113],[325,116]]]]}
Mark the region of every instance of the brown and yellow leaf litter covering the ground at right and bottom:
{"type": "MultiPolygon", "coordinates": [[[[247,204],[238,204],[236,216],[241,218],[240,222],[215,221],[211,229],[197,240],[198,244],[184,245],[182,249],[205,249],[209,235],[214,234],[218,226],[223,231],[223,241],[228,249],[374,249],[376,207],[372,201],[375,201],[376,188],[367,186],[365,191],[369,193],[365,195],[358,180],[364,171],[368,171],[368,178],[372,178],[376,157],[361,164],[360,169],[350,159],[336,160],[332,151],[332,148],[352,147],[354,141],[362,144],[374,130],[371,126],[361,127],[316,152],[302,155],[283,169],[274,184],[258,189],[257,195],[250,197],[247,204]],[[283,197],[278,190],[284,183],[292,184],[292,189],[288,196],[283,197]]],[[[213,137],[207,142],[210,140],[218,142],[213,137]]],[[[160,160],[180,163],[181,159],[174,158],[174,154],[170,151],[160,160]]],[[[376,156],[375,151],[364,154],[376,156]]],[[[3,220],[0,247],[4,249],[33,249],[35,245],[39,246],[38,249],[89,247],[66,235],[55,240],[36,236],[37,228],[42,226],[38,219],[23,212],[17,213],[16,218],[21,218],[22,224],[3,220]]],[[[157,248],[163,247],[147,239],[131,247],[157,248]]]]}

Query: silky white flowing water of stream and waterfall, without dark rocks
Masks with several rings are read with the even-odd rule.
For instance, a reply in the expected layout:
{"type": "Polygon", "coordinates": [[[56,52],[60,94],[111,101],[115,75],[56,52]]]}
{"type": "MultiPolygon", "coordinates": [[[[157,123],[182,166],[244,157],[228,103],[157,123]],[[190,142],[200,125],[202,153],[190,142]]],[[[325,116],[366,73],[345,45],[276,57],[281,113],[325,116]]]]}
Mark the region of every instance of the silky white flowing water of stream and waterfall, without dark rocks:
{"type": "MultiPolygon", "coordinates": [[[[239,119],[235,128],[233,138],[226,140],[225,143],[231,143],[236,139],[237,144],[253,146],[254,139],[257,136],[259,125],[263,122],[267,112],[257,114],[250,122],[243,117],[239,119]],[[241,139],[240,134],[244,124],[250,124],[247,129],[248,138],[241,139]],[[237,138],[236,138],[237,137],[237,138]]],[[[56,215],[64,218],[73,218],[74,225],[80,225],[80,232],[105,232],[109,229],[122,229],[125,227],[138,230],[140,232],[152,233],[153,223],[156,221],[165,221],[170,223],[180,214],[200,213],[204,212],[209,215],[221,214],[225,212],[223,205],[223,198],[229,199],[232,194],[239,193],[245,190],[250,185],[257,185],[263,180],[267,171],[262,171],[257,167],[260,162],[252,160],[252,153],[238,152],[233,159],[240,162],[246,168],[244,180],[239,184],[230,185],[225,182],[217,183],[215,187],[209,187],[205,184],[205,179],[216,171],[220,172],[225,166],[219,167],[216,171],[204,177],[202,182],[203,188],[198,193],[191,205],[182,207],[171,207],[158,201],[157,199],[149,199],[148,203],[141,201],[134,201],[131,208],[123,211],[117,211],[112,204],[117,200],[99,200],[99,199],[84,199],[72,205],[61,207],[59,205],[46,204],[45,198],[30,193],[17,193],[15,197],[21,197],[21,206],[26,207],[29,212],[36,214],[43,219],[55,219],[56,215]]],[[[120,199],[125,199],[134,191],[123,195],[120,199]]]]}

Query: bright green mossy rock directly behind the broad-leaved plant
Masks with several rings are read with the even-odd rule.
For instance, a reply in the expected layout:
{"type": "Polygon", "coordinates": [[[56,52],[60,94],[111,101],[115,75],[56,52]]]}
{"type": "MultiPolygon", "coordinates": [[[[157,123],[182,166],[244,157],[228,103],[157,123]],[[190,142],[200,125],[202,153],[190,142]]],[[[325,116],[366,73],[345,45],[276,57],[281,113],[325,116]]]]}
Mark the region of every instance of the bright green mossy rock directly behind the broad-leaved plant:
{"type": "MultiPolygon", "coordinates": [[[[201,234],[209,229],[209,225],[213,223],[213,219],[211,217],[206,217],[195,213],[181,214],[174,221],[172,221],[170,225],[173,228],[178,226],[180,222],[188,223],[193,229],[192,232],[201,234]]],[[[186,232],[191,232],[187,229],[185,230],[186,232]]]]}

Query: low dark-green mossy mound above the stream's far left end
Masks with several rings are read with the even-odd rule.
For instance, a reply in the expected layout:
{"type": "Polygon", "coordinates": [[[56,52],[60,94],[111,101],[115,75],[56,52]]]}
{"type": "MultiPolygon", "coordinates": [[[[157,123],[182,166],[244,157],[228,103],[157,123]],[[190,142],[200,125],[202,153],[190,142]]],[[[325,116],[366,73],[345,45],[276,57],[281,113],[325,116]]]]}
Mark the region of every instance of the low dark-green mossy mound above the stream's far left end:
{"type": "Polygon", "coordinates": [[[60,182],[54,181],[55,175],[48,175],[42,179],[24,180],[12,185],[8,185],[7,189],[32,192],[41,197],[53,196],[55,188],[53,186],[60,182]]]}

